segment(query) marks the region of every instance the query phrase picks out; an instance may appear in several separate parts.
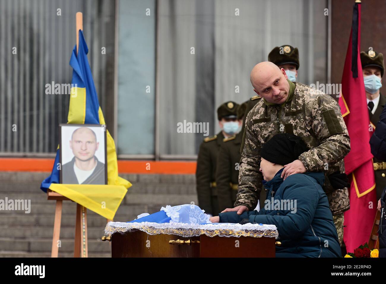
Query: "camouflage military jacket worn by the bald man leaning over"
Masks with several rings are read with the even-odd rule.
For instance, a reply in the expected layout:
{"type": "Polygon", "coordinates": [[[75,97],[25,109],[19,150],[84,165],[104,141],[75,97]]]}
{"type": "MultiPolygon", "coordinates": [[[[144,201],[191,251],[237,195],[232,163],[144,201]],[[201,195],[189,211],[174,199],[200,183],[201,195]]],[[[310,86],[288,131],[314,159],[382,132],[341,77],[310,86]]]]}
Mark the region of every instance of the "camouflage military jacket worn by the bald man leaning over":
{"type": "MultiPolygon", "coordinates": [[[[272,136],[293,133],[311,149],[301,154],[307,172],[344,173],[343,158],[350,151],[350,138],[337,102],[307,85],[295,83],[293,95],[284,105],[268,105],[264,99],[245,119],[245,145],[240,161],[239,191],[234,206],[253,210],[262,186],[260,150],[272,136]]],[[[334,190],[328,179],[323,187],[334,215],[349,209],[347,188],[334,190]]]]}

